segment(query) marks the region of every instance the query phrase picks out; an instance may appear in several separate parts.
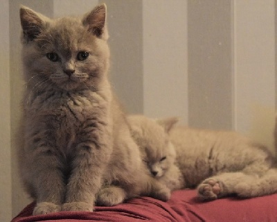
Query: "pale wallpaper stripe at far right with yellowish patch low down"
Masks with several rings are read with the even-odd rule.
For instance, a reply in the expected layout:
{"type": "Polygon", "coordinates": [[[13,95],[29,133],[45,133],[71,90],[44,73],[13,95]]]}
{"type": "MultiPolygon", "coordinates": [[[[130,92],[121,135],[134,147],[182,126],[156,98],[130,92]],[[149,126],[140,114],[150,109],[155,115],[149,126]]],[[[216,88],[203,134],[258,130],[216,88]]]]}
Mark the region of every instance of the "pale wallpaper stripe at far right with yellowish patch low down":
{"type": "Polygon", "coordinates": [[[234,2],[235,130],[272,147],[274,0],[234,2]]]}

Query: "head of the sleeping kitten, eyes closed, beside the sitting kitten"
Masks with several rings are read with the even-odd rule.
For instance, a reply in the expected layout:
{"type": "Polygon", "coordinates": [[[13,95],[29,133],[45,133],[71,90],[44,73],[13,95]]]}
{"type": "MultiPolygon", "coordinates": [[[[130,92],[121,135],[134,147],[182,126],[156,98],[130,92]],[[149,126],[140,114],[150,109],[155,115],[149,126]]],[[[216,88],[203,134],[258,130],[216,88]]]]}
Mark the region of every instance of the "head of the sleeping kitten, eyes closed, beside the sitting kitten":
{"type": "Polygon", "coordinates": [[[177,122],[168,119],[164,127],[152,119],[143,116],[127,117],[132,137],[141,151],[141,159],[153,178],[165,184],[170,190],[185,187],[184,177],[176,164],[176,151],[170,142],[168,132],[177,122]],[[172,124],[170,124],[172,123],[172,124]]]}

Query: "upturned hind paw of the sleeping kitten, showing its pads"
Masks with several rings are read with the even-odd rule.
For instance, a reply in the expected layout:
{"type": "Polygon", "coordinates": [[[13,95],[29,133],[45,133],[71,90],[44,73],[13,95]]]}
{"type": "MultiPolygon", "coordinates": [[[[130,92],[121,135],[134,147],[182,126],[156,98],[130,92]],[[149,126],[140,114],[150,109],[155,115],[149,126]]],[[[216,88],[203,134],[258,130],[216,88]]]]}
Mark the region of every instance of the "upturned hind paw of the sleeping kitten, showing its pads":
{"type": "Polygon", "coordinates": [[[215,200],[221,190],[220,182],[215,180],[206,180],[197,187],[198,195],[203,200],[215,200]]]}

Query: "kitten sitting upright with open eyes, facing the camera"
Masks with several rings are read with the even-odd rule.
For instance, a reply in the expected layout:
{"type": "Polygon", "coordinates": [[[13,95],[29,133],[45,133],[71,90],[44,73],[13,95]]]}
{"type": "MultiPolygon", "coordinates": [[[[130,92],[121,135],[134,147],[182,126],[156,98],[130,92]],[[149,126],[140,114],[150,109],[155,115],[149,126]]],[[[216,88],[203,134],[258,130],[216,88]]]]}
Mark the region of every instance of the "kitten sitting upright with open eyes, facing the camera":
{"type": "Polygon", "coordinates": [[[19,168],[33,214],[92,211],[170,190],[148,176],[111,91],[106,6],[82,18],[20,9],[26,91],[19,168]]]}

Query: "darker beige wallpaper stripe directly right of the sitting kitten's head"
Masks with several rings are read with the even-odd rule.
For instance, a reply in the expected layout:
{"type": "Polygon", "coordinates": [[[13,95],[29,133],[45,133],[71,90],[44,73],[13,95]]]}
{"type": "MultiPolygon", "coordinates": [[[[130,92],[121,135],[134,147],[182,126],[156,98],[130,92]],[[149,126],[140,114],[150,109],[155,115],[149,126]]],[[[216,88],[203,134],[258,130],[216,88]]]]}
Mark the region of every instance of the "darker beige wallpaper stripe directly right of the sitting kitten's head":
{"type": "Polygon", "coordinates": [[[143,112],[142,1],[107,0],[111,83],[128,112],[143,112]]]}

